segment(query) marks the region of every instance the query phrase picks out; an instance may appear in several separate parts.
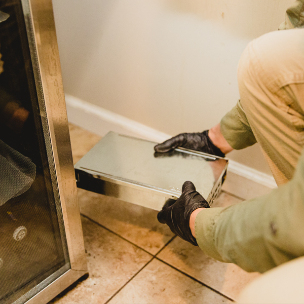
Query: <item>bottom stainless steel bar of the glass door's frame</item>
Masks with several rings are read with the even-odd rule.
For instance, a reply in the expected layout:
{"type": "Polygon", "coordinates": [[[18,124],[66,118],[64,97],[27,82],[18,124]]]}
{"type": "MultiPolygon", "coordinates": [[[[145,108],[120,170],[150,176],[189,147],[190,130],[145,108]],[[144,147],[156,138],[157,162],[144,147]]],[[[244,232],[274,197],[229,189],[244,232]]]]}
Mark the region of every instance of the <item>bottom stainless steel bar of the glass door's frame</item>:
{"type": "Polygon", "coordinates": [[[36,295],[34,295],[31,299],[26,301],[26,304],[42,304],[47,303],[52,300],[56,295],[58,295],[61,291],[69,287],[75,281],[80,279],[82,276],[87,274],[87,271],[80,270],[68,270],[54,282],[52,282],[47,288],[43,289],[36,295]]]}

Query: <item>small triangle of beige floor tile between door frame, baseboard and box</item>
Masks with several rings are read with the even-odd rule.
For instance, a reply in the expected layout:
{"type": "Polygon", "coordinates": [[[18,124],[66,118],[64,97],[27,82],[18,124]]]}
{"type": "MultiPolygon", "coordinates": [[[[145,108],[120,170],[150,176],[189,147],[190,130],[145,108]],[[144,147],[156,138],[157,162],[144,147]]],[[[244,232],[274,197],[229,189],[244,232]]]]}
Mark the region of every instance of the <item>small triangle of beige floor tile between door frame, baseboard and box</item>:
{"type": "Polygon", "coordinates": [[[77,163],[101,139],[99,135],[69,124],[73,162],[77,163]]]}

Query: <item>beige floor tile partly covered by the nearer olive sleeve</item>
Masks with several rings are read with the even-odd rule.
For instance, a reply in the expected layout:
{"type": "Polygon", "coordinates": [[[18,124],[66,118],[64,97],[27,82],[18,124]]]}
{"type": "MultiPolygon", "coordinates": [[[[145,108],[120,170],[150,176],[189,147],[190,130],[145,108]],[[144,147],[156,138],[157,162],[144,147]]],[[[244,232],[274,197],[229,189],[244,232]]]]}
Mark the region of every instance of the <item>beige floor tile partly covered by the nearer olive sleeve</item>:
{"type": "MultiPolygon", "coordinates": [[[[227,207],[241,201],[222,192],[212,207],[227,207]]],[[[199,247],[180,238],[174,239],[158,257],[233,299],[247,283],[258,276],[257,273],[243,271],[237,265],[216,261],[204,254],[199,247]]]]}

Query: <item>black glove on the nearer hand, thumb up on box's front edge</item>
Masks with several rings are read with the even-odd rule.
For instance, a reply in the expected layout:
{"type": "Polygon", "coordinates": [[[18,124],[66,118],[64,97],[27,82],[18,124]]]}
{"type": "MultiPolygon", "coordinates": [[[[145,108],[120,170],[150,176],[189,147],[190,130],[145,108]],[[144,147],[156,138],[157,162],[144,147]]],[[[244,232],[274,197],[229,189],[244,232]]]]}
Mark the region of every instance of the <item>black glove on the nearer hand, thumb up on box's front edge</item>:
{"type": "MultiPolygon", "coordinates": [[[[173,200],[172,200],[173,201],[173,200]]],[[[198,208],[209,208],[208,202],[196,191],[191,181],[182,185],[182,193],[177,201],[165,204],[157,215],[159,222],[167,224],[171,231],[192,245],[198,246],[192,235],[189,221],[191,213],[198,208]]]]}

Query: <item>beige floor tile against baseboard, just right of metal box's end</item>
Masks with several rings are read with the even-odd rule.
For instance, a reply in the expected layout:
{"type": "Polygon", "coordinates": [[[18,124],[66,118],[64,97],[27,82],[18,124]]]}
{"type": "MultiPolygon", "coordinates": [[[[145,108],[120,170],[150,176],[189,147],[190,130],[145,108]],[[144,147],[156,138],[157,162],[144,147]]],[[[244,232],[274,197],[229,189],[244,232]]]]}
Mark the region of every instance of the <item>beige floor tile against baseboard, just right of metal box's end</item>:
{"type": "Polygon", "coordinates": [[[222,190],[234,194],[244,200],[250,200],[264,194],[268,194],[272,191],[269,187],[232,172],[227,173],[227,178],[222,185],[222,190]]]}

